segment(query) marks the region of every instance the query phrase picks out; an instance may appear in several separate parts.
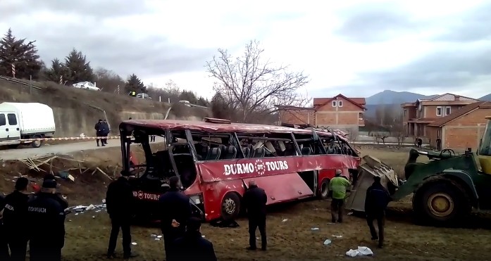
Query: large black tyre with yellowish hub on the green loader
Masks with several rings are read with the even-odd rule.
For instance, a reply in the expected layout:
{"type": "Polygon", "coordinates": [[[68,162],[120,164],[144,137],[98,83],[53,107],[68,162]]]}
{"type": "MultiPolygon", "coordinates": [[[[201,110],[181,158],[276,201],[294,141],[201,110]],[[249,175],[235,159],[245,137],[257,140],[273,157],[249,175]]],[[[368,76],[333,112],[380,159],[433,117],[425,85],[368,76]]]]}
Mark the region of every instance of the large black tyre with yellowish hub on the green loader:
{"type": "Polygon", "coordinates": [[[471,204],[458,184],[431,182],[414,194],[413,210],[423,223],[447,226],[458,224],[466,217],[471,212],[471,204]]]}

